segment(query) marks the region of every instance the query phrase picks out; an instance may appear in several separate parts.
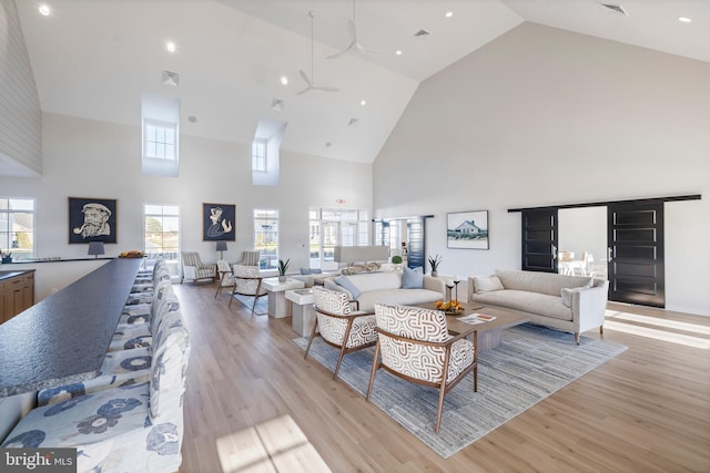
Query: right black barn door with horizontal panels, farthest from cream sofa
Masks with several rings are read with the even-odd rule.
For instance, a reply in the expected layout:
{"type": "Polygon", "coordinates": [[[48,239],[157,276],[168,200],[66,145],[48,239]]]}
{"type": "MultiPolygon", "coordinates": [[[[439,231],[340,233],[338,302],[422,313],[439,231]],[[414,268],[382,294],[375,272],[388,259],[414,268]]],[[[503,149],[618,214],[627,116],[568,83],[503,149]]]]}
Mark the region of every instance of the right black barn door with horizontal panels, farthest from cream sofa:
{"type": "Polygon", "coordinates": [[[608,208],[609,300],[666,307],[663,203],[608,208]]]}

